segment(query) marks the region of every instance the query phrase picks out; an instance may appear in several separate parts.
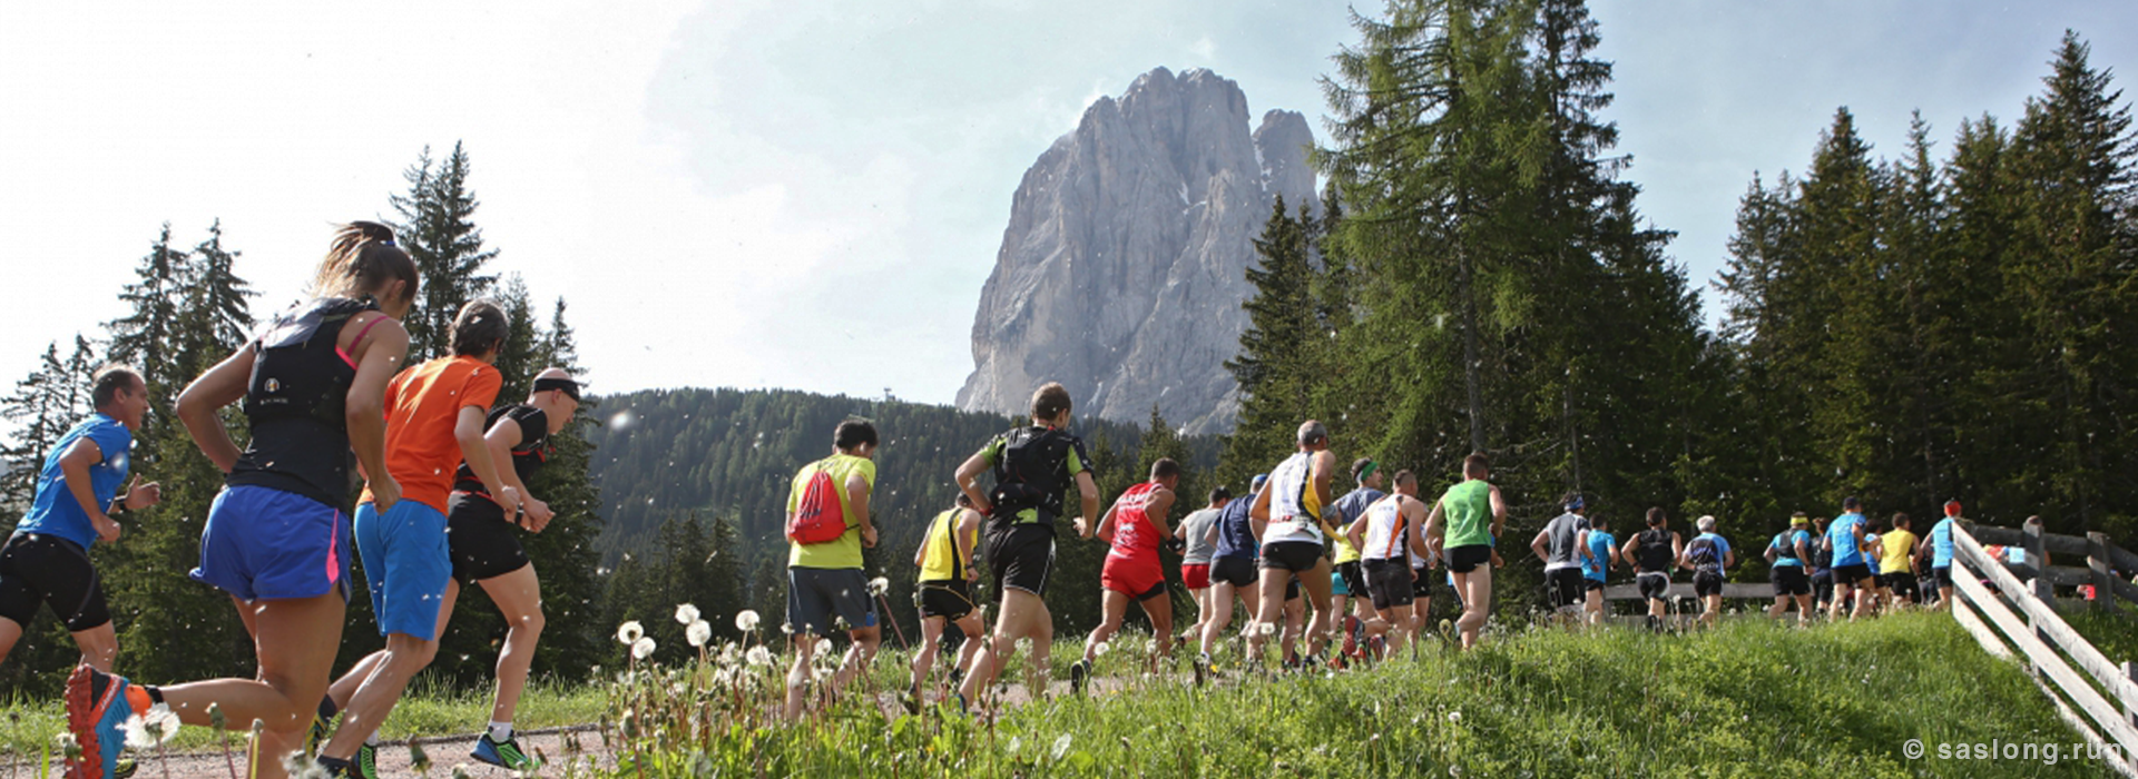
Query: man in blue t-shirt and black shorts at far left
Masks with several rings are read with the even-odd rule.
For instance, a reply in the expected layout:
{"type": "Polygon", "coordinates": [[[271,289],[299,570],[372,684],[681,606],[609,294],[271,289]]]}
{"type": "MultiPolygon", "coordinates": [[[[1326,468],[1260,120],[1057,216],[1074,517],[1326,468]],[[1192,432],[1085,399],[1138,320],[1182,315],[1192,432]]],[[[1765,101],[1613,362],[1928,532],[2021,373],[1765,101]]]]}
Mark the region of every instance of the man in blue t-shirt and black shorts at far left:
{"type": "Polygon", "coordinates": [[[133,431],[148,414],[141,373],[115,365],[96,371],[90,403],[96,412],[51,444],[30,510],[0,546],[0,659],[15,651],[43,604],[75,636],[83,666],[109,672],[120,653],[90,546],[120,540],[111,514],[156,506],[162,487],[135,476],[120,491],[133,465],[133,431]]]}

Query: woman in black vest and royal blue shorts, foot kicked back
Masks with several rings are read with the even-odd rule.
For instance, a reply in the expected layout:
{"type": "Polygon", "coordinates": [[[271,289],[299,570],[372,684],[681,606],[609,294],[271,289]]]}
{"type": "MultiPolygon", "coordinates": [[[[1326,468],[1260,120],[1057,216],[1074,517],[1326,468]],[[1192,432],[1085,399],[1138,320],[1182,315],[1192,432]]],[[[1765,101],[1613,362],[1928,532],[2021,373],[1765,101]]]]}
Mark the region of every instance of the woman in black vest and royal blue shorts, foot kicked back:
{"type": "Polygon", "coordinates": [[[391,228],[344,224],[312,282],[316,299],[278,314],[177,395],[195,446],[227,474],[192,578],[231,593],[259,677],[150,687],[77,668],[66,683],[68,730],[83,749],[77,777],[109,777],[120,726],[152,704],[188,726],[212,726],[210,704],[227,724],[261,721],[248,775],[284,775],[282,756],[301,747],[342,647],[348,450],[378,506],[391,510],[402,495],[387,474],[383,395],[408,354],[400,318],[415,292],[415,260],[391,228]],[[239,399],[252,431],[244,450],[218,414],[239,399]]]}

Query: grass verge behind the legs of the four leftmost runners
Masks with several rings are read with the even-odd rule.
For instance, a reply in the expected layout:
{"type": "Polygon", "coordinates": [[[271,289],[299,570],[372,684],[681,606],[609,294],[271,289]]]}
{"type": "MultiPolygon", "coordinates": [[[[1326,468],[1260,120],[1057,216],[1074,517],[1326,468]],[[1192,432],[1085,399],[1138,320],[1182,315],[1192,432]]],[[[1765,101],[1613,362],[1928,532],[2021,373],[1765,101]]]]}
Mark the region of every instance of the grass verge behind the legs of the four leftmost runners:
{"type": "MultiPolygon", "coordinates": [[[[515,726],[522,730],[577,726],[597,721],[605,706],[605,694],[592,685],[558,685],[534,681],[520,698],[515,726]]],[[[410,685],[408,696],[393,706],[381,728],[383,738],[475,734],[490,724],[490,689],[449,691],[425,683],[421,677],[410,685]]],[[[233,724],[244,728],[242,724],[233,724]]],[[[66,730],[66,711],[58,700],[9,700],[0,706],[0,760],[28,756],[53,743],[66,730]]],[[[171,738],[171,749],[216,749],[218,734],[210,728],[184,728],[171,738]]],[[[242,749],[244,732],[231,734],[233,749],[242,749]]]]}

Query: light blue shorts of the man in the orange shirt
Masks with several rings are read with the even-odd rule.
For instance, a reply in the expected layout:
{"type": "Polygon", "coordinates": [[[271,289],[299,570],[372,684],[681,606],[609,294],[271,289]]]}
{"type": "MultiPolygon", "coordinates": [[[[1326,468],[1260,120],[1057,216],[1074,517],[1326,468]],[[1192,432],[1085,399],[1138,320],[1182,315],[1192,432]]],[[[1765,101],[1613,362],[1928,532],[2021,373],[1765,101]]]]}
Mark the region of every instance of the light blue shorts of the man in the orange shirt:
{"type": "Polygon", "coordinates": [[[436,640],[438,606],[453,581],[445,514],[413,499],[393,504],[385,516],[372,504],[357,506],[357,555],[378,634],[436,640]]]}

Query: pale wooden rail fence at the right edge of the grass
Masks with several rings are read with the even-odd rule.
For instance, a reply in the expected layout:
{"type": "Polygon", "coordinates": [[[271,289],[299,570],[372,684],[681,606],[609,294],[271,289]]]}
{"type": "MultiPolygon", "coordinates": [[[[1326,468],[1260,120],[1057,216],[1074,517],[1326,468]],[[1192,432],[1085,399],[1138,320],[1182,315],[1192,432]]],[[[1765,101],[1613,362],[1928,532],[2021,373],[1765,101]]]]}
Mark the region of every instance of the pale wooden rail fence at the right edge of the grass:
{"type": "Polygon", "coordinates": [[[1952,531],[1952,546],[1956,589],[1952,617],[1982,642],[1984,651],[2025,659],[2033,683],[2057,704],[2063,721],[2097,749],[2102,762],[2138,779],[2138,764],[2132,762],[2132,756],[2138,756],[2134,668],[2127,662],[2110,662],[2057,617],[2052,591],[2055,585],[2093,585],[2093,608],[2112,608],[2114,600],[2138,602],[2134,598],[2138,587],[2110,574],[2110,568],[2138,570],[2138,557],[2117,549],[2102,534],[2055,536],[2042,534],[2040,527],[2018,531],[1963,525],[1952,531]],[[2010,566],[1993,557],[1978,536],[2025,549],[2025,563],[2010,566]],[[2087,568],[2044,566],[2055,561],[2052,555],[2082,555],[2087,568]],[[2023,581],[2014,570],[2031,576],[2023,581]]]}

